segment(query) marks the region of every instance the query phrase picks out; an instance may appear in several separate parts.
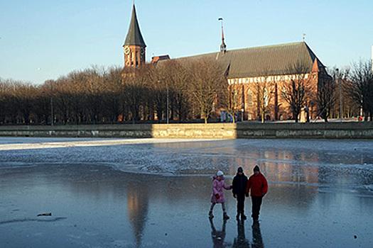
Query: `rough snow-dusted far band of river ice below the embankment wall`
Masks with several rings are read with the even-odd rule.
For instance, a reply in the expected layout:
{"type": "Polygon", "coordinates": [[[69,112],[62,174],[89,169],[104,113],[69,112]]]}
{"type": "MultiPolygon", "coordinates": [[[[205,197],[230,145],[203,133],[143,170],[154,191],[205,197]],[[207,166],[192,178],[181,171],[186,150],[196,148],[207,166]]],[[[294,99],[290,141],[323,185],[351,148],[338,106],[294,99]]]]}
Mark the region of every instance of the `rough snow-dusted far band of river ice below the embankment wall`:
{"type": "Polygon", "coordinates": [[[0,137],[0,168],[104,164],[121,171],[227,177],[259,164],[271,182],[367,189],[369,140],[183,140],[0,137]]]}

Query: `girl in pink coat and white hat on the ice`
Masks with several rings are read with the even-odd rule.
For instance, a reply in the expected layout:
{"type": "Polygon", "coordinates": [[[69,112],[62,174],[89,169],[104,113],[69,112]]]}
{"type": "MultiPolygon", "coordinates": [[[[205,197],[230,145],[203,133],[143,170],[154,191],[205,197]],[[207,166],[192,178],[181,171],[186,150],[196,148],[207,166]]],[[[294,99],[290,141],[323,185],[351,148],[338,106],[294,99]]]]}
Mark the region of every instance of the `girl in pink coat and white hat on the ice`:
{"type": "Polygon", "coordinates": [[[223,188],[230,189],[231,187],[225,185],[223,172],[217,171],[217,174],[214,176],[214,179],[212,181],[211,208],[209,213],[210,218],[214,218],[214,215],[212,215],[212,210],[214,209],[216,203],[222,203],[223,219],[229,219],[227,211],[225,210],[225,197],[223,188]]]}

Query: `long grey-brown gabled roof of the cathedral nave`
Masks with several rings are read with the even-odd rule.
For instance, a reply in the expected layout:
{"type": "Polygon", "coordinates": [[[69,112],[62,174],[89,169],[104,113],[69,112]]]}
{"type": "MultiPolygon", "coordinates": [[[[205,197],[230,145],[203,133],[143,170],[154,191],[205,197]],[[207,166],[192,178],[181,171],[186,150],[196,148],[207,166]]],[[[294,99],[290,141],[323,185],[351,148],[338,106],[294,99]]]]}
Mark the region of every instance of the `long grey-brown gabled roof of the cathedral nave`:
{"type": "MultiPolygon", "coordinates": [[[[316,55],[305,42],[249,47],[227,52],[182,57],[178,60],[217,60],[228,70],[228,78],[258,77],[263,75],[296,74],[291,72],[297,64],[311,72],[316,55]]],[[[318,67],[324,65],[317,59],[318,67]]]]}

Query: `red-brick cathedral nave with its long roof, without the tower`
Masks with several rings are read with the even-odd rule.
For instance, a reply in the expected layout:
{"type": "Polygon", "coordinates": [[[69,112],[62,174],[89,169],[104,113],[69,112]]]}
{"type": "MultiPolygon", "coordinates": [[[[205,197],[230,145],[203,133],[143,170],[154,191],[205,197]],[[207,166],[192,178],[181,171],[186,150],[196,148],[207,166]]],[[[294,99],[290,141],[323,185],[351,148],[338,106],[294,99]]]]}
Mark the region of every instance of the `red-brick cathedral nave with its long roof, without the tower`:
{"type": "MultiPolygon", "coordinates": [[[[269,45],[264,47],[250,47],[237,50],[221,50],[203,55],[182,57],[177,60],[199,60],[207,58],[216,60],[225,69],[229,86],[237,90],[242,96],[241,112],[242,120],[258,119],[259,109],[256,105],[256,83],[271,82],[274,89],[266,120],[286,120],[293,118],[288,103],[283,99],[281,92],[283,84],[291,79],[302,77],[309,79],[314,85],[315,92],[318,85],[330,79],[325,66],[316,57],[315,53],[305,42],[288,43],[281,45],[269,45]],[[293,71],[296,64],[301,64],[306,73],[299,74],[293,71]]],[[[315,106],[307,103],[312,117],[315,117],[315,106]]]]}

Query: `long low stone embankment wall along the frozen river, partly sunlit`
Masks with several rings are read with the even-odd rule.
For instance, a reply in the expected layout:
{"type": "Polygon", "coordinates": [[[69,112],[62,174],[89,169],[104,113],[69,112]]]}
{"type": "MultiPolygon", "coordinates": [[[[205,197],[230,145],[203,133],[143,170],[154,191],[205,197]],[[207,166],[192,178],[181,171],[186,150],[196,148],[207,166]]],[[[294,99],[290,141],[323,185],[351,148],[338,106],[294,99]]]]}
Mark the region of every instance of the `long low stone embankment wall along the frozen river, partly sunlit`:
{"type": "Polygon", "coordinates": [[[0,136],[373,139],[373,123],[0,126],[0,136]]]}

